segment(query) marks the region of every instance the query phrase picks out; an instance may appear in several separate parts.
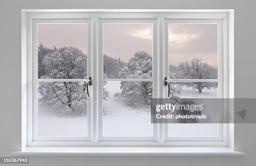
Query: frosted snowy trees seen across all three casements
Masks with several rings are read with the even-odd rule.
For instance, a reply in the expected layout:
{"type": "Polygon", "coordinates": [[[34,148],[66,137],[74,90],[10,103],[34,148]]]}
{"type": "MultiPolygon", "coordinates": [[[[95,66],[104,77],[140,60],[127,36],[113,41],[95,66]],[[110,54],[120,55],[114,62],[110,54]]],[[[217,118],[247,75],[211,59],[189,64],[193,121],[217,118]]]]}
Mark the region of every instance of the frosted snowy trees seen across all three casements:
{"type": "MultiPolygon", "coordinates": [[[[112,58],[103,55],[104,78],[114,79],[151,79],[153,78],[152,56],[146,51],[137,51],[128,62],[121,61],[118,57],[112,58]]],[[[171,79],[217,79],[217,69],[200,59],[193,59],[180,63],[177,66],[169,66],[171,79]]],[[[38,78],[46,79],[86,79],[87,56],[76,47],[61,47],[49,49],[43,44],[38,46],[38,78]]],[[[151,81],[121,81],[120,93],[114,97],[125,97],[127,105],[135,105],[137,102],[148,104],[152,98],[153,82],[151,81]]],[[[103,99],[107,100],[109,92],[105,88],[107,82],[103,82],[103,99]]],[[[217,87],[214,82],[181,82],[172,84],[170,94],[179,96],[181,87],[186,84],[202,92],[202,89],[217,87]]],[[[42,103],[58,106],[66,105],[68,112],[74,112],[75,107],[86,105],[86,82],[40,82],[38,92],[41,94],[42,103]]]]}

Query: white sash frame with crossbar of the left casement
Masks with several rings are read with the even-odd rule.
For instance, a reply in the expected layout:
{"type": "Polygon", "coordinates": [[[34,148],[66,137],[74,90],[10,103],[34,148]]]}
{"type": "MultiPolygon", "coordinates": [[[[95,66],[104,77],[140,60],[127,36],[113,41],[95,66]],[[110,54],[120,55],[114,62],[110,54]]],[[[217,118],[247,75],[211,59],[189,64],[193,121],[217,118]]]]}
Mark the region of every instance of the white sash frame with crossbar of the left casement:
{"type": "MultiPolygon", "coordinates": [[[[92,98],[87,97],[87,136],[38,136],[38,104],[37,100],[37,89],[38,82],[87,82],[87,79],[38,79],[38,24],[87,24],[87,77],[89,78],[92,75],[92,28],[91,28],[91,19],[90,18],[78,18],[78,19],[49,19],[49,18],[33,18],[32,19],[32,51],[31,54],[31,71],[33,79],[33,102],[31,111],[31,116],[33,116],[33,141],[89,141],[91,140],[91,128],[92,128],[92,98]]],[[[91,88],[89,86],[89,93],[91,88]]]]}

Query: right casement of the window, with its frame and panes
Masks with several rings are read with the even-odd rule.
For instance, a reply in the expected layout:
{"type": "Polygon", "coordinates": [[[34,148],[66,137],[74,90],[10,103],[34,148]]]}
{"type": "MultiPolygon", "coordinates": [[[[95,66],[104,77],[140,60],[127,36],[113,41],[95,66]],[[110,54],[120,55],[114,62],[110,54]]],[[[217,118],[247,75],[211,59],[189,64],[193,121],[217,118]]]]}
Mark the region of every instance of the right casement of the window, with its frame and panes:
{"type": "MultiPolygon", "coordinates": [[[[164,70],[172,89],[170,97],[223,98],[222,20],[164,21],[168,34],[164,61],[169,66],[164,70]]],[[[165,140],[222,141],[224,127],[223,123],[169,123],[165,125],[165,140]]]]}

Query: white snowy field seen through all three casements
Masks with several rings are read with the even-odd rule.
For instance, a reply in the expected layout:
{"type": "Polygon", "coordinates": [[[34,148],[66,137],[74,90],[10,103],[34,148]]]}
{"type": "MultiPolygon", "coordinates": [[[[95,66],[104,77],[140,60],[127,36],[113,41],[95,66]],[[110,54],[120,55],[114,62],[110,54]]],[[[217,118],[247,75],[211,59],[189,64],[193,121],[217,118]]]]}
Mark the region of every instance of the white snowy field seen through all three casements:
{"type": "MultiPolygon", "coordinates": [[[[109,98],[103,101],[103,128],[105,137],[152,136],[150,105],[138,104],[137,107],[125,105],[125,98],[114,97],[121,92],[119,81],[108,81],[105,88],[109,98]]],[[[181,98],[216,98],[217,88],[197,89],[182,87],[181,98]]],[[[87,136],[87,115],[85,111],[77,114],[63,114],[61,107],[38,104],[38,136],[87,136]]],[[[169,124],[172,136],[217,135],[216,124],[169,124]],[[172,130],[172,128],[179,130],[172,130]],[[209,128],[211,130],[209,130],[209,128]],[[212,132],[215,131],[215,132],[212,132]]],[[[171,135],[169,135],[171,136],[171,135]]]]}

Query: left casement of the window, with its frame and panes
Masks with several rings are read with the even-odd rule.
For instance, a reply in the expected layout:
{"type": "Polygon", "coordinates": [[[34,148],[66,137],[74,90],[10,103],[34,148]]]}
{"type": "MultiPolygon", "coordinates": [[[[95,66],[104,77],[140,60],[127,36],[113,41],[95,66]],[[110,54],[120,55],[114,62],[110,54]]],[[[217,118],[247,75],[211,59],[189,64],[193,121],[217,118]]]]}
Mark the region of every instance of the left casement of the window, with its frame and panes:
{"type": "Polygon", "coordinates": [[[90,25],[90,19],[33,20],[35,141],[90,140],[90,25]]]}

